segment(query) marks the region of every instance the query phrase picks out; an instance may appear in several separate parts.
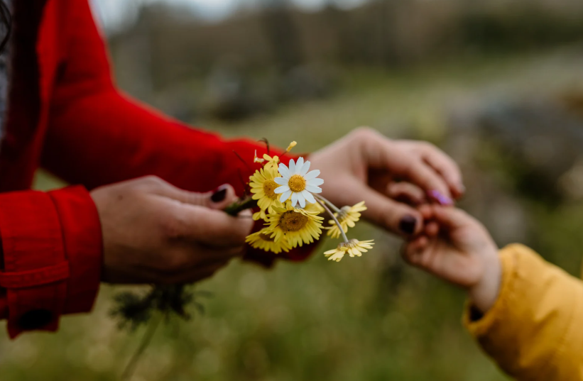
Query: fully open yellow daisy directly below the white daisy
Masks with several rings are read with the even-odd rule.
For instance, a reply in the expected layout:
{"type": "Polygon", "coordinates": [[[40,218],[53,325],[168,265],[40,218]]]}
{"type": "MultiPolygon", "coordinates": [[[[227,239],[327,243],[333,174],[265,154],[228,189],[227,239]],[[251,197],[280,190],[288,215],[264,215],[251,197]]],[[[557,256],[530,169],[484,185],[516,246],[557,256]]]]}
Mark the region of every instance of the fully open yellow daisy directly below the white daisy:
{"type": "Polygon", "coordinates": [[[276,242],[287,239],[295,248],[320,238],[324,217],[317,216],[317,212],[294,208],[291,203],[286,203],[285,208],[274,206],[273,210],[276,213],[269,214],[266,221],[271,238],[276,242]]]}

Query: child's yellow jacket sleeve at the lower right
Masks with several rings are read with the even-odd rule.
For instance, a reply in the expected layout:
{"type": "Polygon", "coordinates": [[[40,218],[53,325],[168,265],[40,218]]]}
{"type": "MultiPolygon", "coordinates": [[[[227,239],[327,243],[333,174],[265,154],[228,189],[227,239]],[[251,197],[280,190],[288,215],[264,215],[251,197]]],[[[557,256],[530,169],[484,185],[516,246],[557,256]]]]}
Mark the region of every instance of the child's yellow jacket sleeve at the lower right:
{"type": "Polygon", "coordinates": [[[583,282],[523,245],[500,251],[494,307],[464,325],[516,380],[583,381],[583,282]]]}

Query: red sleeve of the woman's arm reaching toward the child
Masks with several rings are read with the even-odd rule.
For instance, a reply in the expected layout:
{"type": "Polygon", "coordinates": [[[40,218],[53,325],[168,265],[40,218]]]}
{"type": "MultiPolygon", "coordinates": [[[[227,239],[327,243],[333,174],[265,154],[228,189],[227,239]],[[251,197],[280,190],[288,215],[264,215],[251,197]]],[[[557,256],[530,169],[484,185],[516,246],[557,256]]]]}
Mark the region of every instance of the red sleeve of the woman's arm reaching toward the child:
{"type": "MultiPolygon", "coordinates": [[[[251,173],[234,151],[251,162],[254,151],[261,155],[265,146],[224,140],[121,94],[111,79],[107,50],[89,4],[68,4],[68,54],[53,91],[43,166],[88,189],[157,175],[182,189],[207,192],[229,183],[241,194],[241,177],[246,180],[251,173]]],[[[300,248],[285,258],[302,260],[310,250],[300,248]]],[[[246,258],[271,265],[275,257],[249,250],[246,258]]]]}

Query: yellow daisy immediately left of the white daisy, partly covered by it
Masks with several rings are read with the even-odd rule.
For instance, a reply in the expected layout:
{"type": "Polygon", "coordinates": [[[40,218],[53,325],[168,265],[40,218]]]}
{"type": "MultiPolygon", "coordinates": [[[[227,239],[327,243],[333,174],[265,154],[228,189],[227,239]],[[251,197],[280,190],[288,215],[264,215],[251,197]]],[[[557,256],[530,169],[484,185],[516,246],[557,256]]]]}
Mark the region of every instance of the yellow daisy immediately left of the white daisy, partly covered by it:
{"type": "Polygon", "coordinates": [[[266,211],[270,214],[273,213],[273,206],[283,207],[283,204],[278,200],[278,195],[273,192],[279,187],[275,182],[276,177],[279,177],[276,167],[263,167],[249,177],[252,198],[257,200],[257,205],[261,208],[261,211],[253,215],[254,220],[266,219],[266,211]]]}

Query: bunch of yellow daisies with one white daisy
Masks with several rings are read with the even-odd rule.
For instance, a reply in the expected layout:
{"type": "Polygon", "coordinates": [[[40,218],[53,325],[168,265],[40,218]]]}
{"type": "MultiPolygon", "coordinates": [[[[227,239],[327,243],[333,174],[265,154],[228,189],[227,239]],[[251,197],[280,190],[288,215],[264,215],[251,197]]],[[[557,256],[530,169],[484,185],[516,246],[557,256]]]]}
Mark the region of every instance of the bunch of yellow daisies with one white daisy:
{"type": "MultiPolygon", "coordinates": [[[[285,153],[294,146],[292,142],[285,153]]],[[[284,153],[284,155],[285,155],[284,153]]],[[[249,187],[259,211],[253,219],[265,221],[265,227],[247,237],[253,248],[273,253],[286,253],[297,246],[313,243],[320,239],[322,229],[332,238],[342,236],[337,248],[324,253],[329,260],[339,262],[345,254],[359,257],[372,248],[373,241],[359,241],[347,238],[348,228],[353,228],[360,219],[360,212],[366,210],[364,201],[354,206],[338,208],[320,195],[324,180],[318,178],[320,170],[310,171],[310,162],[304,158],[293,159],[289,167],[277,156],[266,154],[254,158],[254,162],[265,163],[260,170],[249,177],[249,187]],[[328,226],[322,226],[324,217],[329,216],[328,226]]]]}

